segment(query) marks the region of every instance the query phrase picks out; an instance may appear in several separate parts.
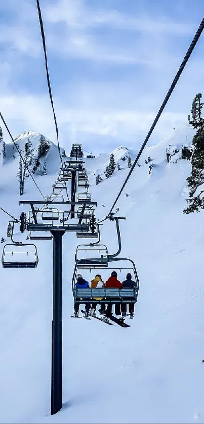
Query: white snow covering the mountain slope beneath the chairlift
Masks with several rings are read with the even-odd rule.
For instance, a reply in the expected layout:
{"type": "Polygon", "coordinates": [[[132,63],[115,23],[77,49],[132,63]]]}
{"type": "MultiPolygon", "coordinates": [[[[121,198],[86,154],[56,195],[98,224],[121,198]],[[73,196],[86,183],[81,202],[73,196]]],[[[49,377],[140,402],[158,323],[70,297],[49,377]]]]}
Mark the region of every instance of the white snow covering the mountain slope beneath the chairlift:
{"type": "MultiPolygon", "coordinates": [[[[1,268],[0,422],[204,422],[203,219],[202,213],[182,213],[189,161],[166,161],[169,144],[185,143],[186,135],[190,137],[189,126],[184,125],[169,139],[147,147],[142,166],[135,168],[116,205],[118,216],[127,217],[120,220],[120,257],[134,260],[140,279],[135,317],[126,318],[130,328],[70,318],[75,249],[87,240],[76,239],[73,233],[63,237],[63,408],[54,416],[50,415],[52,241],[35,242],[36,269],[1,268]],[[148,156],[154,165],[150,174],[148,156]]],[[[118,148],[117,160],[120,150],[121,155],[127,152],[118,148]]],[[[105,169],[109,156],[85,159],[92,200],[98,202],[97,219],[107,215],[128,173],[127,161],[121,161],[123,169],[95,185],[93,172],[105,169]]],[[[53,153],[47,158],[50,173],[34,176],[47,195],[56,179],[55,166],[51,170],[57,161],[53,153]]],[[[28,208],[18,206],[17,167],[13,159],[1,167],[0,190],[1,206],[19,217],[28,208]]],[[[22,199],[39,199],[30,177],[25,188],[22,199]]],[[[5,237],[8,219],[1,212],[5,237]]],[[[26,240],[26,235],[15,226],[16,240],[26,240]]],[[[104,222],[101,243],[110,253],[117,250],[114,222],[104,222]]],[[[101,269],[100,274],[105,280],[107,271],[101,269]]],[[[88,276],[84,271],[83,275],[88,276]]],[[[92,276],[89,273],[89,280],[92,276]]],[[[126,270],[118,271],[120,280],[125,277],[126,270]]]]}

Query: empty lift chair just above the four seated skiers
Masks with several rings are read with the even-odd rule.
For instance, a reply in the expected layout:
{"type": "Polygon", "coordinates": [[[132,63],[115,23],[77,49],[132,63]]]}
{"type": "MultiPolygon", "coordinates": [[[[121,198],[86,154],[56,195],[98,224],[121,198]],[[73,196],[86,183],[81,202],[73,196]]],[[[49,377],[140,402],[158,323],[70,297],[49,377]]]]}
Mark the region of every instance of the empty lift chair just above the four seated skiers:
{"type": "Polygon", "coordinates": [[[75,253],[75,261],[76,266],[80,268],[105,268],[108,266],[108,249],[105,245],[97,245],[92,247],[78,245],[75,253]],[[87,252],[89,256],[86,258],[84,256],[87,252]],[[81,253],[83,253],[83,258],[80,258],[81,253]]]}

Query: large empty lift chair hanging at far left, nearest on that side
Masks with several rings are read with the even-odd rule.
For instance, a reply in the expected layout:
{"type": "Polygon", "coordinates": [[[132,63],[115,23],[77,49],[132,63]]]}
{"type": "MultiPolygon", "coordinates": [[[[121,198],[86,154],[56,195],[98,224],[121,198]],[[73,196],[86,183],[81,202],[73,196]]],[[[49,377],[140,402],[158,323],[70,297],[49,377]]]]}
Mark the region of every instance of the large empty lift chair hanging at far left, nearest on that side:
{"type": "Polygon", "coordinates": [[[37,264],[35,245],[23,243],[5,245],[2,255],[3,268],[36,268],[37,264]]]}

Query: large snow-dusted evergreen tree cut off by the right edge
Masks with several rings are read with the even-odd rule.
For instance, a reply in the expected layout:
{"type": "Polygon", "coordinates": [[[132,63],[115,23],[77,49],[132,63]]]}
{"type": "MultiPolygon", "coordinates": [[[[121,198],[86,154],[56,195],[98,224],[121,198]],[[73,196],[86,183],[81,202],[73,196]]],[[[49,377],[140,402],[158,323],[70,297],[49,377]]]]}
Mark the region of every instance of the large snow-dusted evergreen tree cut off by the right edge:
{"type": "Polygon", "coordinates": [[[192,141],[191,176],[186,178],[189,187],[189,199],[186,200],[189,206],[183,210],[183,213],[199,212],[199,209],[204,208],[204,190],[200,187],[204,183],[204,119],[201,116],[203,108],[201,97],[200,93],[195,96],[191,108],[190,124],[196,128],[196,134],[192,141]]]}

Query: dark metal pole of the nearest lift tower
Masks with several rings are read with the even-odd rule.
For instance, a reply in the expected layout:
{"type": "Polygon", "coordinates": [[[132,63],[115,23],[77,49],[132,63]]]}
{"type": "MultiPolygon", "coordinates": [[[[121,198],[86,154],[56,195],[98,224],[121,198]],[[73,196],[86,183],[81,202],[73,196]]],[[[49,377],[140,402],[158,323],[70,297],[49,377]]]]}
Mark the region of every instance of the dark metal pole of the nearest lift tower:
{"type": "Polygon", "coordinates": [[[51,415],[62,408],[62,237],[65,231],[53,234],[53,320],[51,415]]]}

